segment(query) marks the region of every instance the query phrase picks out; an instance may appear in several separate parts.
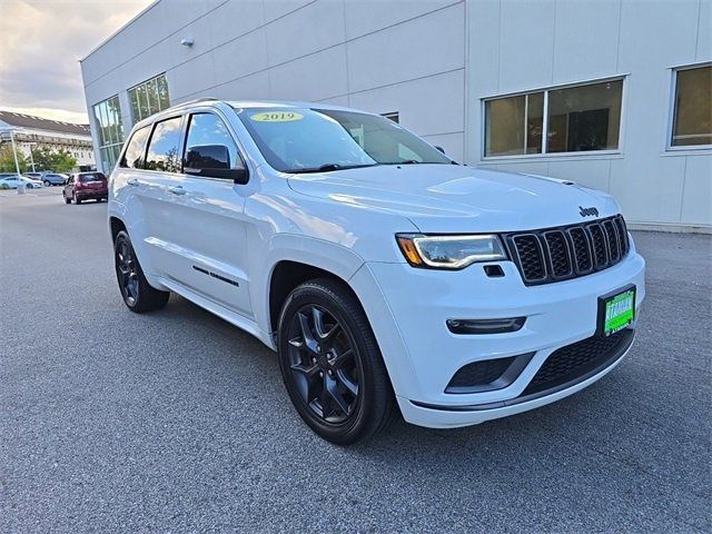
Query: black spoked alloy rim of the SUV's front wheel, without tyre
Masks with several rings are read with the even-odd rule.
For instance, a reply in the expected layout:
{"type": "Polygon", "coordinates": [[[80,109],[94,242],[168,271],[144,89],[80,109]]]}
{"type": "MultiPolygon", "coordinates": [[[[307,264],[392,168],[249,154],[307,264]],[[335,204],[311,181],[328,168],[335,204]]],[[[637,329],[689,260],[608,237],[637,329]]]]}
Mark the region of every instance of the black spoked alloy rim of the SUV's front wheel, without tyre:
{"type": "Polygon", "coordinates": [[[299,308],[288,332],[289,372],[301,399],[323,422],[346,422],[363,382],[353,337],[334,315],[314,304],[299,308]]]}

